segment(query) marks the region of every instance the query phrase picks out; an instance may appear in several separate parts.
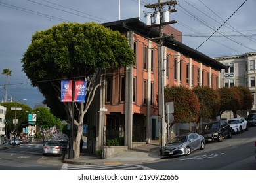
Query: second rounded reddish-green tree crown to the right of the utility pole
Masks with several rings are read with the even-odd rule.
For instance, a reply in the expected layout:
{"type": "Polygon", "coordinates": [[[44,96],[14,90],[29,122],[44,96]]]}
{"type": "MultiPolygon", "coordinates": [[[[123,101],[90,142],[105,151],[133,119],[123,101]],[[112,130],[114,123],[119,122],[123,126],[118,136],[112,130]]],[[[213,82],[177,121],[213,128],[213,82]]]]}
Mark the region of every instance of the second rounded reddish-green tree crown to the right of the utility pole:
{"type": "Polygon", "coordinates": [[[219,114],[220,96],[216,90],[206,86],[197,86],[192,90],[200,102],[199,116],[202,118],[215,118],[219,114]]]}

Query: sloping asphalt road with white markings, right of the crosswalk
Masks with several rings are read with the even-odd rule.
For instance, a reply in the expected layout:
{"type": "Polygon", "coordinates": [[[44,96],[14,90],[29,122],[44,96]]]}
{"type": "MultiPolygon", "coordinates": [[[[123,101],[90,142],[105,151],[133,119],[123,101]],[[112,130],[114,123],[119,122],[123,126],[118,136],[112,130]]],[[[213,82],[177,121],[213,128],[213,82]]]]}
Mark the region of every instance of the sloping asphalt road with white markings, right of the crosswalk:
{"type": "Polygon", "coordinates": [[[207,143],[205,150],[196,150],[189,156],[165,158],[143,166],[158,170],[256,170],[254,141],[256,127],[250,127],[223,142],[207,143]]]}

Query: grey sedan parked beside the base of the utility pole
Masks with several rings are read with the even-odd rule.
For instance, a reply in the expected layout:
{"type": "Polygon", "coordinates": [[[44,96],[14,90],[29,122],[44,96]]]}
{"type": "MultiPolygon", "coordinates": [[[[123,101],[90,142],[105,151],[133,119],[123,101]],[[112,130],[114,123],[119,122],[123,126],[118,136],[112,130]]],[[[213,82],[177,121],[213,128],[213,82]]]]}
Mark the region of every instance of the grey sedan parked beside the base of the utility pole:
{"type": "Polygon", "coordinates": [[[198,133],[177,135],[163,148],[163,156],[189,155],[192,151],[205,148],[205,139],[198,133]]]}

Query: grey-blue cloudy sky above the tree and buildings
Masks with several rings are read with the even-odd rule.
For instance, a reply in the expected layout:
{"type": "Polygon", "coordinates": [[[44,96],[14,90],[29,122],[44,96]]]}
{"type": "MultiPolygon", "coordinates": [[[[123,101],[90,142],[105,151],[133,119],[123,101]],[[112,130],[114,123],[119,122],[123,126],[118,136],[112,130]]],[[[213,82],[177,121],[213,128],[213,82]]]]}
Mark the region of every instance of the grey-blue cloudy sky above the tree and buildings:
{"type": "MultiPolygon", "coordinates": [[[[211,58],[256,52],[255,0],[178,2],[177,12],[170,15],[177,23],[171,26],[182,32],[182,42],[187,46],[211,58]]],[[[12,71],[7,98],[32,108],[44,100],[22,71],[21,63],[36,31],[62,22],[102,24],[136,17],[145,22],[145,14],[154,12],[145,8],[149,3],[158,0],[0,0],[0,71],[12,71]]],[[[0,102],[5,100],[6,79],[0,75],[0,102]]]]}

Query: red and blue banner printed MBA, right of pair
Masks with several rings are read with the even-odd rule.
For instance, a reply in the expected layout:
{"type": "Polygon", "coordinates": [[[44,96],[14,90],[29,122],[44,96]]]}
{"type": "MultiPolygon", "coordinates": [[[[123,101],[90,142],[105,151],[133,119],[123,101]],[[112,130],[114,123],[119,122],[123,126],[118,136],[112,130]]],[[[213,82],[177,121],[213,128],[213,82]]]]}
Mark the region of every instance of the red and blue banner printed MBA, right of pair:
{"type": "Polygon", "coordinates": [[[75,81],[75,96],[74,101],[78,103],[85,102],[85,90],[86,90],[86,82],[83,80],[75,81]]]}

